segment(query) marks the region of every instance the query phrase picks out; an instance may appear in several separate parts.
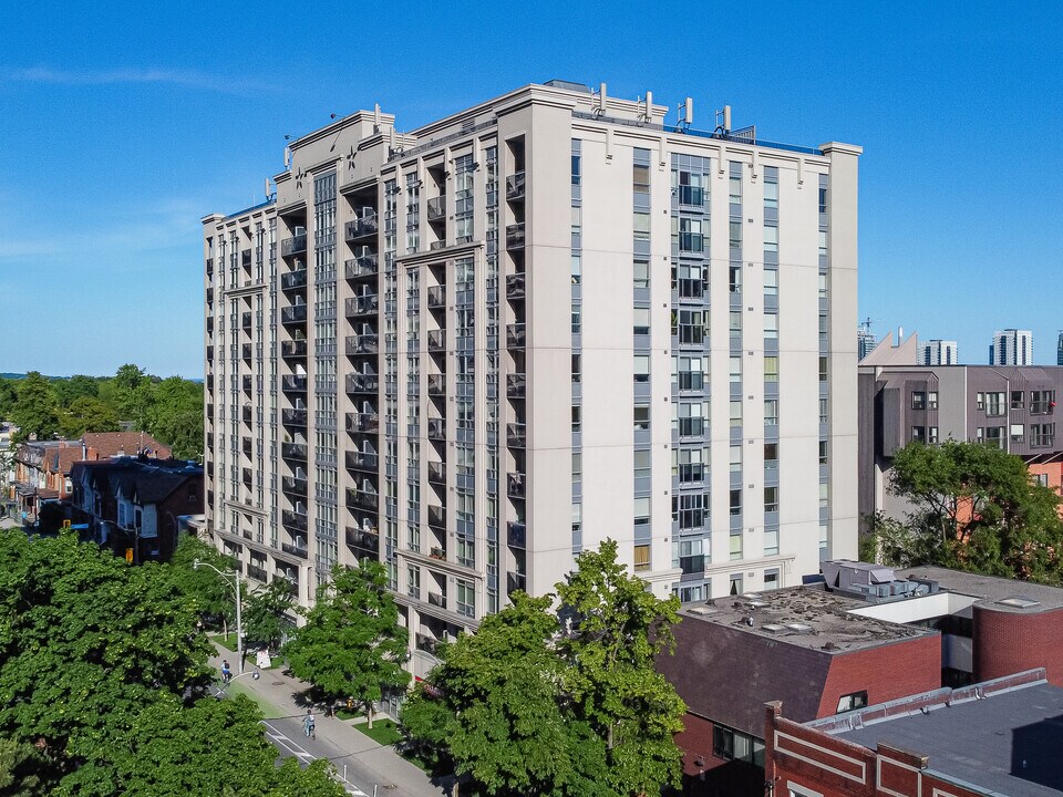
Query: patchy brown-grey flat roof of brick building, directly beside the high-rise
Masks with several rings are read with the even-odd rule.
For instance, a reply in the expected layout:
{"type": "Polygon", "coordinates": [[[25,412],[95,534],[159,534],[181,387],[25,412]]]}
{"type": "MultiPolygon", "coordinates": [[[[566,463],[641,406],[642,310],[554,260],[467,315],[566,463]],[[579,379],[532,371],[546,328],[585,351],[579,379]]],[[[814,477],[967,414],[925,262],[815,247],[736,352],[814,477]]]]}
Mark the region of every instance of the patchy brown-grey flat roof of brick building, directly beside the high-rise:
{"type": "Polygon", "coordinates": [[[725,625],[756,636],[826,653],[845,653],[937,634],[929,629],[901,625],[850,612],[867,605],[868,603],[856,598],[827,592],[815,586],[804,586],[716,598],[708,603],[684,605],[679,613],[687,621],[725,625]]]}

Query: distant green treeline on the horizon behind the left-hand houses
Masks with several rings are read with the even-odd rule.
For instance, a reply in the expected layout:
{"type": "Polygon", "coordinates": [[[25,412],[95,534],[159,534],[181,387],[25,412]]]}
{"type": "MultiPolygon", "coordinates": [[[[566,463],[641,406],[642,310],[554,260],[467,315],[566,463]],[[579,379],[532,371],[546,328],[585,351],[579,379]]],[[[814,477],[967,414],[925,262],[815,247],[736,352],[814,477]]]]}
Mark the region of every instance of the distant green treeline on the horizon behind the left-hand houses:
{"type": "Polygon", "coordinates": [[[0,420],[20,427],[18,441],[56,435],[75,439],[85,432],[147,432],[174,456],[203,455],[203,382],[159,379],[136,365],[114,376],[0,376],[0,420]]]}

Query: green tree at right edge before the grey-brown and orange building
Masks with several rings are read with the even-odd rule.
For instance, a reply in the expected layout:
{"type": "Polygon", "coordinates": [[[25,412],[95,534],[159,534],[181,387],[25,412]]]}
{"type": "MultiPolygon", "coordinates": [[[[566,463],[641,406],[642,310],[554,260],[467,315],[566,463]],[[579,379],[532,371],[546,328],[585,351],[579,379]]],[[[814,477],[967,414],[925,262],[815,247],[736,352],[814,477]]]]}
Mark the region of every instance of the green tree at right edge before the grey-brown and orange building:
{"type": "Polygon", "coordinates": [[[1021,458],[978,443],[912,443],[894,457],[890,490],[914,511],[901,528],[876,519],[884,561],[1060,582],[1061,498],[1021,458]]]}

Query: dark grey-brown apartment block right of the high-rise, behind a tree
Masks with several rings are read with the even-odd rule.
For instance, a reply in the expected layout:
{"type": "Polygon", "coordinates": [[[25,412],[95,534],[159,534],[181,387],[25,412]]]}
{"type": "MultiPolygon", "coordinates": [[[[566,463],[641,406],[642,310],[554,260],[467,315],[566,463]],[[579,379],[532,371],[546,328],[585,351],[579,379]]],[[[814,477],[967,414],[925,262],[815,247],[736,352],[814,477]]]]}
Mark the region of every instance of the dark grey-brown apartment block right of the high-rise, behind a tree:
{"type": "Polygon", "coordinates": [[[1059,462],[1055,402],[1063,368],[917,365],[916,337],[888,338],[859,366],[860,515],[901,517],[888,493],[894,455],[907,444],[947,439],[999,445],[1031,465],[1059,462]],[[910,363],[910,364],[909,364],[910,363]]]}

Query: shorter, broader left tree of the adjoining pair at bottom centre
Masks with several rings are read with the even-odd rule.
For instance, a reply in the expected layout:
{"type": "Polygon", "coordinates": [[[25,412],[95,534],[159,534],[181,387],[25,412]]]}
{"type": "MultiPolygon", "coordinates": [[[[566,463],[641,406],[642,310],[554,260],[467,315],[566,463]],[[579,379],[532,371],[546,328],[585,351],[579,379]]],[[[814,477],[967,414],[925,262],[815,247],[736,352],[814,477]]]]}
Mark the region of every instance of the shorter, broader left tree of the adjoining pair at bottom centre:
{"type": "Polygon", "coordinates": [[[441,645],[431,684],[403,706],[406,733],[485,794],[613,794],[599,784],[605,744],[568,712],[551,597],[513,600],[475,634],[441,645]]]}

